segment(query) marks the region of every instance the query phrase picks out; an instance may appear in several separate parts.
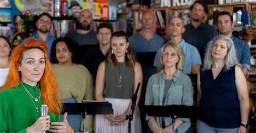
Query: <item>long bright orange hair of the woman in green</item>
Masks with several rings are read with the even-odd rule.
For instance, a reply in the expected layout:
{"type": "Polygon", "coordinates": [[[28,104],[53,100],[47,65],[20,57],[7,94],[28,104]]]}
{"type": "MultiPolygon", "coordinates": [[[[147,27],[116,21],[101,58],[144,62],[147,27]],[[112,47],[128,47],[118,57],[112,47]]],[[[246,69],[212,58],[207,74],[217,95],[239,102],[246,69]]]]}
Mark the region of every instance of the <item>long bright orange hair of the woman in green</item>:
{"type": "Polygon", "coordinates": [[[18,64],[22,60],[24,51],[33,48],[38,48],[44,51],[45,70],[41,80],[39,81],[43,102],[44,104],[48,105],[50,112],[59,115],[62,112],[63,105],[58,97],[58,85],[55,76],[53,75],[51,63],[46,53],[48,51],[48,48],[43,41],[28,39],[26,40],[24,45],[18,45],[17,47],[15,47],[14,51],[11,54],[9,75],[6,79],[5,84],[0,87],[0,91],[18,86],[20,81],[18,64]]]}

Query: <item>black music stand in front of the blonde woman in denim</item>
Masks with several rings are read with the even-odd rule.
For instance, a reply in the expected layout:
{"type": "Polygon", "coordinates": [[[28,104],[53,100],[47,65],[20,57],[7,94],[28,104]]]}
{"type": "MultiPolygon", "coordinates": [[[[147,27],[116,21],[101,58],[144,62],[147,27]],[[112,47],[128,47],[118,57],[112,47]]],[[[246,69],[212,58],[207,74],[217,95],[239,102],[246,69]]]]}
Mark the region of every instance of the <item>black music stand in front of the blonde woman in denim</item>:
{"type": "MultiPolygon", "coordinates": [[[[151,106],[142,105],[139,106],[142,112],[145,112],[149,116],[155,117],[171,117],[174,125],[177,117],[181,118],[198,118],[201,117],[201,111],[196,106],[186,105],[167,105],[167,106],[151,106]]],[[[174,132],[174,126],[172,126],[174,132]]]]}

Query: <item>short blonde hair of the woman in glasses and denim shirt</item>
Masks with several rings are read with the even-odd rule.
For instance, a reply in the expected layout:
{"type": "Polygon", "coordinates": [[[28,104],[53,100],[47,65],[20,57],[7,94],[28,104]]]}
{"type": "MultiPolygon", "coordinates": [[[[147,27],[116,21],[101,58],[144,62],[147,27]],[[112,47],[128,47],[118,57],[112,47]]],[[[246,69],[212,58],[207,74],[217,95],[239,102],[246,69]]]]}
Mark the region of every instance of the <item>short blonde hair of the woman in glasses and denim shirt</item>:
{"type": "Polygon", "coordinates": [[[165,43],[165,45],[161,48],[161,57],[160,57],[161,64],[164,64],[163,63],[163,51],[167,47],[172,48],[173,53],[175,53],[179,58],[179,62],[176,64],[176,68],[178,70],[183,70],[183,61],[184,61],[185,54],[184,54],[183,49],[179,45],[179,43],[174,42],[174,41],[169,41],[169,42],[165,43]]]}

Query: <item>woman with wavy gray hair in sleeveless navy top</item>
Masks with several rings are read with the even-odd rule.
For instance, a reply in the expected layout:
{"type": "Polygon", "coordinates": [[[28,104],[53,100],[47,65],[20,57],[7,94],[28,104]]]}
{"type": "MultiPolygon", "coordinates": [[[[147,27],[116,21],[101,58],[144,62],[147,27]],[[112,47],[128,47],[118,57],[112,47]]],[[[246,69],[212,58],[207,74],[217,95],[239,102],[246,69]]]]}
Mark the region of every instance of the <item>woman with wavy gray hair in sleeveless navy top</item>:
{"type": "Polygon", "coordinates": [[[204,116],[197,121],[197,132],[246,132],[247,84],[234,43],[218,35],[209,44],[197,80],[197,104],[204,116]]]}

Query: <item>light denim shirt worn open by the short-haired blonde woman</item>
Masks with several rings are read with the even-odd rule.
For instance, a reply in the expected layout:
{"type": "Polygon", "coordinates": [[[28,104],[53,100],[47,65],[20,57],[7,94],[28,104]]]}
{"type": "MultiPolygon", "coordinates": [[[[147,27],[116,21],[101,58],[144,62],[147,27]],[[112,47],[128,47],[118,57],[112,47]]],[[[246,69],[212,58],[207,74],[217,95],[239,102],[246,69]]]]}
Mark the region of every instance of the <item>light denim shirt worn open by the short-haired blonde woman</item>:
{"type": "MultiPolygon", "coordinates": [[[[164,70],[152,75],[147,83],[145,105],[163,106],[164,96],[164,70]]],[[[193,105],[193,89],[190,77],[185,73],[177,70],[173,75],[173,83],[170,86],[164,105],[193,105]]],[[[146,115],[146,120],[150,120],[152,116],[146,115]]],[[[178,118],[183,121],[177,128],[176,132],[185,132],[190,127],[190,119],[178,118]]],[[[156,117],[157,124],[161,127],[161,118],[156,117]]],[[[170,117],[165,117],[166,127],[172,124],[170,117]]],[[[149,127],[152,130],[149,122],[149,127]]]]}

